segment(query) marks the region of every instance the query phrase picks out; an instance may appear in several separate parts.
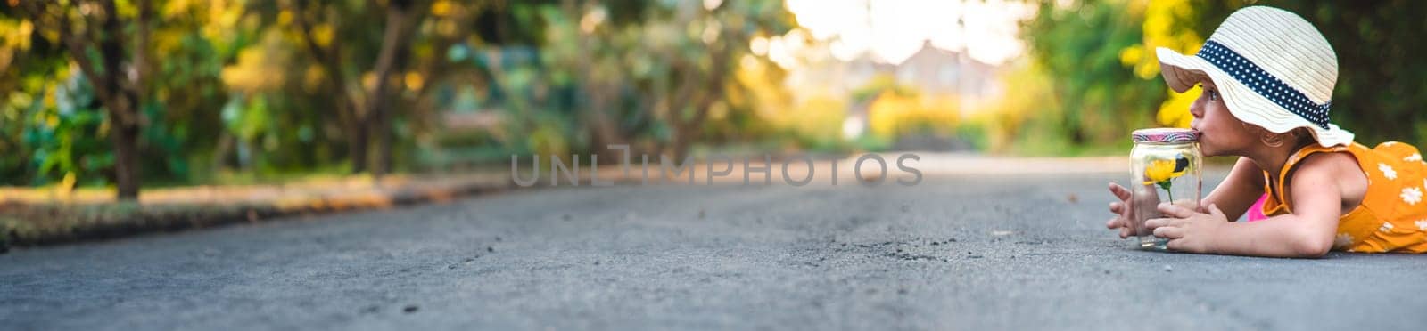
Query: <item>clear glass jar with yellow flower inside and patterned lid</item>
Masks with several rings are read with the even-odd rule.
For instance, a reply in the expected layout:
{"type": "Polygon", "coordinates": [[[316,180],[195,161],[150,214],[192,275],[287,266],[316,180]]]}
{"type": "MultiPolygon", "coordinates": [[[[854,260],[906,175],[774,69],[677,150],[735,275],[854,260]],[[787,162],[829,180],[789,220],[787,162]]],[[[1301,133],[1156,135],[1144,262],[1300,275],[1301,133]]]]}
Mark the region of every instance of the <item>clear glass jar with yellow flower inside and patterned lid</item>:
{"type": "Polygon", "coordinates": [[[1154,237],[1144,221],[1163,217],[1159,211],[1163,201],[1199,210],[1203,188],[1199,133],[1189,128],[1143,128],[1132,136],[1134,148],[1130,150],[1127,218],[1134,230],[1134,247],[1166,250],[1169,240],[1154,237]]]}

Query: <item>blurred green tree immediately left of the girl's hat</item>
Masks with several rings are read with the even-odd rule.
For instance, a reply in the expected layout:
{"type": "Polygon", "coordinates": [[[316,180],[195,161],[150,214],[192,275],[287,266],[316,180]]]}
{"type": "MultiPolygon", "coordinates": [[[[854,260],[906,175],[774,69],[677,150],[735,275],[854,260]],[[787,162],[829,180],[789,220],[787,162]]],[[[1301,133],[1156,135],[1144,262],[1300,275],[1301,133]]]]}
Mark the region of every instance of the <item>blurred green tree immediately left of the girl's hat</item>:
{"type": "Polygon", "coordinates": [[[1130,130],[1153,123],[1164,83],[1124,68],[1122,50],[1143,41],[1144,3],[1042,3],[1022,30],[1029,56],[1050,80],[1052,96],[1036,120],[1072,146],[1127,141],[1130,130]]]}

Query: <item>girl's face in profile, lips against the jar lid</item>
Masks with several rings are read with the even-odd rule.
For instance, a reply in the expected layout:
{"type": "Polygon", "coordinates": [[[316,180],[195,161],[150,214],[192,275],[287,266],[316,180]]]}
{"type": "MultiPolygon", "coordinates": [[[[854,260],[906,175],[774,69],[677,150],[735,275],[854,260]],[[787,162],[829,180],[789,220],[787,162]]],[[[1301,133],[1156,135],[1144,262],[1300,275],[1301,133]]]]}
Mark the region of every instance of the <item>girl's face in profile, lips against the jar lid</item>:
{"type": "Polygon", "coordinates": [[[1194,116],[1190,127],[1199,130],[1199,148],[1204,156],[1243,156],[1243,151],[1259,141],[1239,118],[1229,113],[1219,87],[1207,77],[1200,78],[1203,91],[1189,113],[1194,116]]]}

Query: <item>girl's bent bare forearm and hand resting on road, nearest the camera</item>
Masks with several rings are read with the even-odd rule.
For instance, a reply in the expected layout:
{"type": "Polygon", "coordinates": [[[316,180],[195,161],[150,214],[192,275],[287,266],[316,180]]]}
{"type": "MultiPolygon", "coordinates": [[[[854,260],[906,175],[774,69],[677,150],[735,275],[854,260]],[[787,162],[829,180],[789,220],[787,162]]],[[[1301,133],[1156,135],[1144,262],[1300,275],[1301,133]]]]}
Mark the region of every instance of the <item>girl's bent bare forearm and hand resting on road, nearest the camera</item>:
{"type": "MultiPolygon", "coordinates": [[[[1227,223],[1224,213],[1213,204],[1209,214],[1160,204],[1160,211],[1173,218],[1154,218],[1146,224],[1154,228],[1154,235],[1170,238],[1169,248],[1176,251],[1323,257],[1333,248],[1343,211],[1341,177],[1336,175],[1341,167],[1333,164],[1341,161],[1340,157],[1310,157],[1299,166],[1289,188],[1296,207],[1293,214],[1259,223],[1227,223]]],[[[1347,157],[1346,161],[1353,160],[1347,157]]],[[[1353,164],[1353,168],[1357,166],[1353,164]]]]}

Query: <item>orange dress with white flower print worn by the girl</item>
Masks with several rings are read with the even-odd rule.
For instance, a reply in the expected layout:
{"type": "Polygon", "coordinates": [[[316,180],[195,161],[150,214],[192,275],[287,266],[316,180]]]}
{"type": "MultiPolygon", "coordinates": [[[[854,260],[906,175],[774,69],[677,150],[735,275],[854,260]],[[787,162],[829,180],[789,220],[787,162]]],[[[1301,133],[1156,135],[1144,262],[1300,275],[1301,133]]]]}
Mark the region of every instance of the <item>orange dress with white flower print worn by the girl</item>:
{"type": "Polygon", "coordinates": [[[1333,250],[1357,253],[1427,253],[1427,163],[1417,147],[1387,141],[1374,148],[1350,146],[1303,147],[1284,164],[1277,181],[1264,171],[1269,198],[1263,214],[1273,217],[1293,213],[1283,201],[1283,180],[1304,157],[1313,153],[1349,153],[1367,174],[1363,203],[1339,218],[1333,250]],[[1277,187],[1270,187],[1277,185],[1277,187]],[[1277,190],[1271,190],[1277,188],[1277,190]]]}

